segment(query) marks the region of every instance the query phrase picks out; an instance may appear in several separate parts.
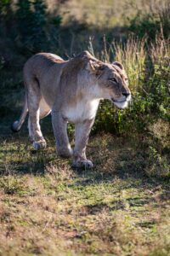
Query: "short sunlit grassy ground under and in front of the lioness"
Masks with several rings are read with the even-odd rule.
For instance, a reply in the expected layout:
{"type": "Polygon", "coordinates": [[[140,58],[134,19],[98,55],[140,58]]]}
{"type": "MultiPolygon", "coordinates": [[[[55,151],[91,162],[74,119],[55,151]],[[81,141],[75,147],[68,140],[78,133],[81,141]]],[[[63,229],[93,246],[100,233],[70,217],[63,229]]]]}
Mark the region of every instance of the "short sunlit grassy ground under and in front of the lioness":
{"type": "MultiPolygon", "coordinates": [[[[20,134],[1,137],[0,255],[168,255],[169,181],[144,174],[139,141],[101,134],[93,171],[20,134]]],[[[26,127],[25,127],[26,128],[26,127]]]]}

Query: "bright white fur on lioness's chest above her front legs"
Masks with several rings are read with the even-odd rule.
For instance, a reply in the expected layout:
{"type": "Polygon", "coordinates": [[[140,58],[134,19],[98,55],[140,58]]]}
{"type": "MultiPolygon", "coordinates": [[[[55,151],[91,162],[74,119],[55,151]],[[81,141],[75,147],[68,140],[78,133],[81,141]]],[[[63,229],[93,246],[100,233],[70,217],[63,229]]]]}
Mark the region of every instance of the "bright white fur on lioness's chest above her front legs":
{"type": "Polygon", "coordinates": [[[99,106],[99,99],[77,102],[65,108],[64,117],[69,122],[77,123],[86,119],[94,119],[99,106]]]}

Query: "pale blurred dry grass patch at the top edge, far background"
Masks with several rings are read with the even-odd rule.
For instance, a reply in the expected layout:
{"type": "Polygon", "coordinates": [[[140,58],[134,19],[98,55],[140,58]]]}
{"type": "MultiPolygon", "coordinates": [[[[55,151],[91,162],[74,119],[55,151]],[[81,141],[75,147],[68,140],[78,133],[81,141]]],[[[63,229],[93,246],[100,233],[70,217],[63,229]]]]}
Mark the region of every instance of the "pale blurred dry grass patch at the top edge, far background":
{"type": "Polygon", "coordinates": [[[47,0],[50,12],[63,16],[63,25],[68,25],[71,20],[98,28],[112,28],[113,26],[124,26],[127,18],[133,18],[138,11],[148,13],[157,11],[167,3],[167,0],[156,1],[118,1],[118,0],[70,0],[56,1],[47,0]],[[61,3],[61,4],[59,4],[61,3]]]}

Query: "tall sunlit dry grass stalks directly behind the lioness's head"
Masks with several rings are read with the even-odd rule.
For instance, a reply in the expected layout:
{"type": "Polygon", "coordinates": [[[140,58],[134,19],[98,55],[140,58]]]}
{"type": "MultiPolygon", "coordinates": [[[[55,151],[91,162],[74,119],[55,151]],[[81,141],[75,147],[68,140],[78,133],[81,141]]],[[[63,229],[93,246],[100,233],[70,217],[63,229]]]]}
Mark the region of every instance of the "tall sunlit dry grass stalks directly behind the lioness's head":
{"type": "Polygon", "coordinates": [[[95,51],[92,38],[88,41],[88,50],[104,62],[119,61],[125,68],[129,80],[129,87],[133,94],[138,91],[143,84],[144,68],[146,61],[146,39],[134,38],[129,36],[126,43],[113,42],[109,44],[103,37],[103,49],[95,51]]]}

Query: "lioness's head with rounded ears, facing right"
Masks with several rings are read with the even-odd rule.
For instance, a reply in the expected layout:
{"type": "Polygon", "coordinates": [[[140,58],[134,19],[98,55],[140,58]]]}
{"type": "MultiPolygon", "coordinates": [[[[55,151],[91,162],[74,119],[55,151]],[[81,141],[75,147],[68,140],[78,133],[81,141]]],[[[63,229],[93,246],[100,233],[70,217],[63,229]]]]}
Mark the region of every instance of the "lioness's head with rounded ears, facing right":
{"type": "Polygon", "coordinates": [[[101,98],[111,100],[118,108],[127,107],[131,92],[128,88],[127,73],[120,62],[105,63],[88,53],[87,69],[94,84],[97,84],[94,90],[101,98]]]}

